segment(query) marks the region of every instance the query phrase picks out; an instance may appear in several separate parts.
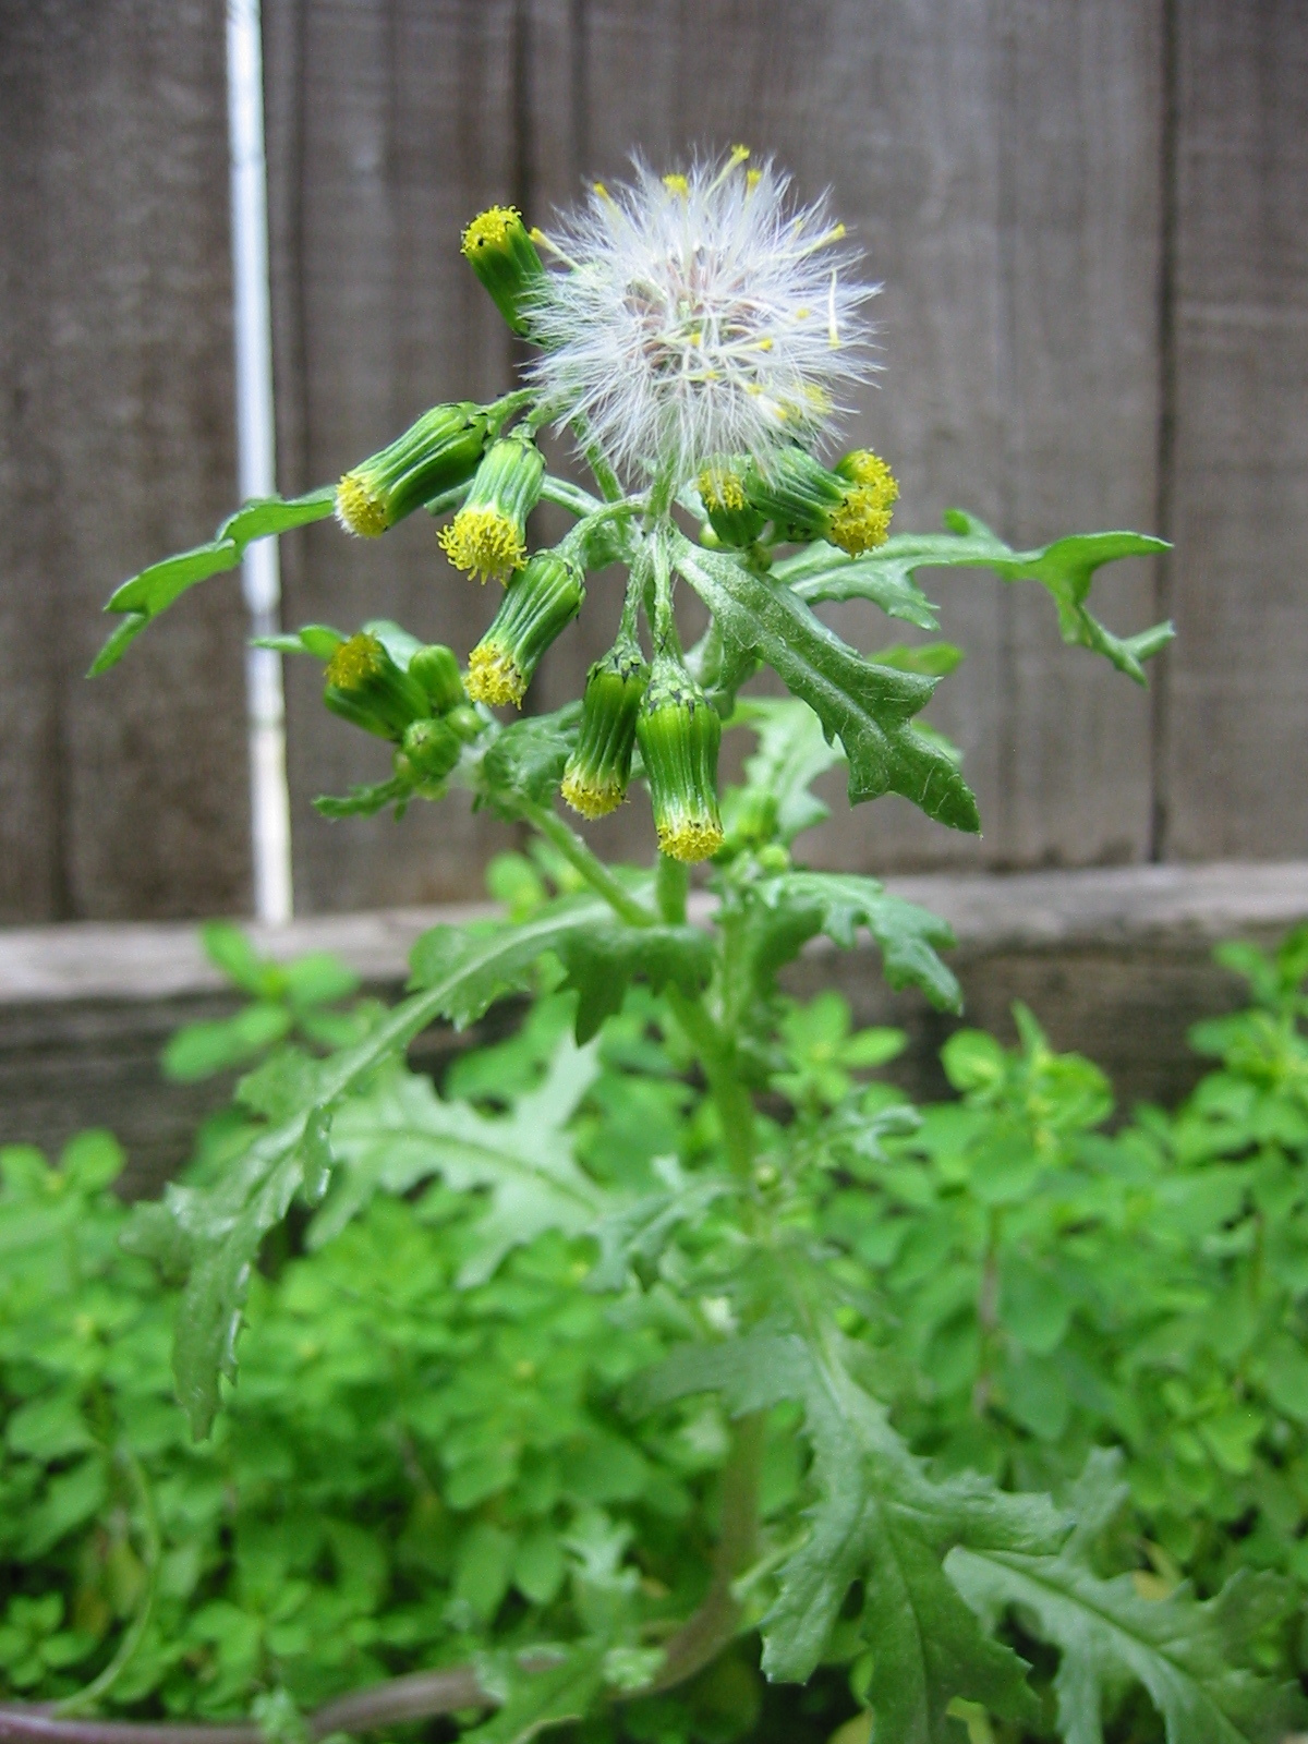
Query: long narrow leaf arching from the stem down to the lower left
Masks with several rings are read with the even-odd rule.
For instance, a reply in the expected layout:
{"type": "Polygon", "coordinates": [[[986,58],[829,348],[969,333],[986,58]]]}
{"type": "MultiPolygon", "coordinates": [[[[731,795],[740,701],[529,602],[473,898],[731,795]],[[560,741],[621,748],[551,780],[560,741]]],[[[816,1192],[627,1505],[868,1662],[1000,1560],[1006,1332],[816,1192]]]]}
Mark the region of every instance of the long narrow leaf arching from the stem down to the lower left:
{"type": "Polygon", "coordinates": [[[213,1188],[169,1186],[167,1209],[192,1252],[173,1373],[197,1441],[218,1411],[220,1376],[235,1378],[235,1341],[260,1242],[286,1214],[307,1165],[314,1156],[321,1160],[314,1127],[321,1113],[335,1111],[438,1017],[462,1024],[480,1017],[499,991],[518,984],[527,964],[555,949],[570,930],[589,926],[596,912],[609,910],[600,902],[572,898],[523,926],[464,935],[436,928],[424,935],[413,952],[424,991],[396,1006],[364,1041],[321,1064],[312,1106],[262,1134],[213,1188]]]}

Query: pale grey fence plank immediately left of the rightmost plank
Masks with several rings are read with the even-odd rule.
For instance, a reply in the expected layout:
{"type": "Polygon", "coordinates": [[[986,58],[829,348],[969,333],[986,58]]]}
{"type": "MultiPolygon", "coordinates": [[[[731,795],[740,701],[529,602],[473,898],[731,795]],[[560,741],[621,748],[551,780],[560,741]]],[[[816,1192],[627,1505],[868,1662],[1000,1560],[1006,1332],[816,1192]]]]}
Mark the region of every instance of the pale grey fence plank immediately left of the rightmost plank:
{"type": "MultiPolygon", "coordinates": [[[[1001,150],[1003,532],[1156,532],[1162,7],[1008,0],[992,49],[1001,150]]],[[[1102,570],[1118,633],[1153,623],[1149,563],[1102,570]]],[[[992,863],[1148,856],[1148,692],[1066,649],[1046,598],[999,602],[992,863]]]]}

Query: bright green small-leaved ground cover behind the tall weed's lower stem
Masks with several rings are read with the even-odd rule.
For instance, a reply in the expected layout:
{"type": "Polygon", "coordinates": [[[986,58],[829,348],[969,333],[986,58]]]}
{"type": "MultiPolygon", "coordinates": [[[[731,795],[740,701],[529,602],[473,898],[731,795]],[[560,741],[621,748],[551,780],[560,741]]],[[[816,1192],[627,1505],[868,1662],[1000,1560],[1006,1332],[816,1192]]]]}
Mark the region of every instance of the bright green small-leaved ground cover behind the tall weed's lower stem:
{"type": "MultiPolygon", "coordinates": [[[[530,860],[501,862],[495,884],[523,919],[549,907],[530,860]]],[[[249,1071],[174,1193],[223,1177],[310,1050],[385,1022],[373,1001],[310,1006],[316,1043],[251,1043],[277,978],[338,998],[347,977],[321,959],[288,977],[225,928],[209,944],[253,998],[181,1032],[169,1064],[197,1076],[242,1052],[249,1071]]],[[[1275,957],[1223,956],[1254,1003],[1195,1032],[1219,1064],[1174,1114],[1142,1107],[1111,1132],[1100,1073],[1025,1012],[1017,1050],[956,1032],[959,1099],[916,1111],[872,1076],[902,1032],[851,1031],[830,992],[778,999],[755,1172],[837,1296],[860,1407],[888,1406],[869,1439],[898,1460],[903,1437],[926,1463],[893,1477],[928,1500],[992,1505],[975,1477],[957,1488],[984,1472],[1078,1519],[1053,1556],[945,1557],[1038,1667],[1024,1723],[952,1699],[973,1735],[1052,1735],[1059,1713],[1078,1735],[1085,1704],[1109,1737],[1149,1739],[1130,1678],[1175,1737],[1205,1735],[1205,1711],[1245,1735],[1303,1667],[1308,931],[1275,957]]],[[[160,1209],[110,1191],[113,1141],[84,1134],[58,1165],[0,1153],[12,1693],[331,1718],[352,1692],[452,1664],[511,1690],[527,1655],[555,1643],[562,1669],[562,1643],[589,1638],[607,1643],[610,1702],[588,1737],[825,1739],[856,1721],[884,1641],[865,1610],[834,1615],[799,1707],[759,1671],[776,1570],[806,1549],[814,1486],[841,1477],[804,1432],[821,1406],[802,1343],[732,1327],[713,1097],[663,999],[633,989],[577,1046],[562,964],[537,973],[516,1034],[457,1059],[439,1092],[392,1059],[342,1109],[335,1181],[251,1280],[241,1385],[206,1442],[173,1393],[178,1282],[141,1256],[160,1209]],[[712,1587],[745,1390],[773,1402],[738,1613],[710,1664],[644,1693],[712,1587]]],[[[549,1679],[560,1718],[579,1706],[570,1681],[518,1676],[520,1700],[549,1679]]]]}

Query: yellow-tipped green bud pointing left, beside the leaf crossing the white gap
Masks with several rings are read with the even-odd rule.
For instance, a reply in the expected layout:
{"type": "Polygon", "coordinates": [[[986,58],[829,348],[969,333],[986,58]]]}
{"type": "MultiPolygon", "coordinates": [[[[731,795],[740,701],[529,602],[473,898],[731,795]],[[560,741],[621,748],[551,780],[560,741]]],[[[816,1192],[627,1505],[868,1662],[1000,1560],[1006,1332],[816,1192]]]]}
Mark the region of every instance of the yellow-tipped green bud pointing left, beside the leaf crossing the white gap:
{"type": "Polygon", "coordinates": [[[433,406],[380,453],[361,460],[337,485],[337,520],[345,532],[377,539],[443,490],[476,471],[487,445],[480,406],[433,406]]]}

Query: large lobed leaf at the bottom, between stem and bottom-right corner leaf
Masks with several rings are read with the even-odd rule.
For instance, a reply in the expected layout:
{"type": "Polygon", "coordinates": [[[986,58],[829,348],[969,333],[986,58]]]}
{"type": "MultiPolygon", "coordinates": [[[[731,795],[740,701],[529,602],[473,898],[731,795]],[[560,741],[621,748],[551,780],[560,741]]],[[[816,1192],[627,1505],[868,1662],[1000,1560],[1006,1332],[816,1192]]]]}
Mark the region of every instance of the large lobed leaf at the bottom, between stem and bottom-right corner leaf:
{"type": "Polygon", "coordinates": [[[975,1475],[933,1482],[844,1367],[797,1336],[685,1346],[642,1378],[633,1402],[647,1409],[706,1390],[736,1414],[799,1400],[814,1449],[811,1533],[778,1571],[760,1625],[764,1672],[806,1681],[862,1580],[875,1660],[869,1700],[886,1737],[944,1744],[956,1697],[1034,1718],[1025,1666],[982,1634],[942,1559],[957,1543],[1048,1552],[1062,1536],[1048,1498],[1005,1495],[975,1475]]]}

